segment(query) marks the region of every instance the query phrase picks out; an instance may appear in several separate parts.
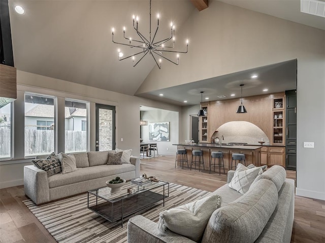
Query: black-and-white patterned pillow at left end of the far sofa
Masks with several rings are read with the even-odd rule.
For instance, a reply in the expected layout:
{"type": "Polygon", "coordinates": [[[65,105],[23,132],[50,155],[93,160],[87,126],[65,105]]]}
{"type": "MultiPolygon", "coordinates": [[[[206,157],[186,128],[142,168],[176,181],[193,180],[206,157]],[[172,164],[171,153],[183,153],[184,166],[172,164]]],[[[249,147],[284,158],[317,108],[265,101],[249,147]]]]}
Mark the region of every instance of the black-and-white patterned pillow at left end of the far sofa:
{"type": "Polygon", "coordinates": [[[31,160],[31,163],[37,168],[46,171],[47,177],[60,174],[62,172],[60,160],[54,152],[45,159],[33,159],[31,160]]]}

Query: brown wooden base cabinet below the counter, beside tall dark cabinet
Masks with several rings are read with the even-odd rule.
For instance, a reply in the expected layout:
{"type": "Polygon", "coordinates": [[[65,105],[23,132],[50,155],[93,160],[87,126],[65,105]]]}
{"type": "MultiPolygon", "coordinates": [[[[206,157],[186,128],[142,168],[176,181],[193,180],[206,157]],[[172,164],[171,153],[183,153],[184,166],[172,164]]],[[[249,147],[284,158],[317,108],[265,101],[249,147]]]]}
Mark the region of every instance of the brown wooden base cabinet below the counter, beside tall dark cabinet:
{"type": "Polygon", "coordinates": [[[285,167],[284,147],[262,147],[261,165],[285,167]]]}

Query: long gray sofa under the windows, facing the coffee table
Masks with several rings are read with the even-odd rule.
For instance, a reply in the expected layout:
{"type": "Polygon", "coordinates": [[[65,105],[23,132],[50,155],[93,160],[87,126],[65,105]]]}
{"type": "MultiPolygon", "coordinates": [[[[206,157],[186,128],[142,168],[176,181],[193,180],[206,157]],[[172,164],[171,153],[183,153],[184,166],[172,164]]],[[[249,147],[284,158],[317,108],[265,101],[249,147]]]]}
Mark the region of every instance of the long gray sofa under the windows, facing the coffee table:
{"type": "Polygon", "coordinates": [[[25,194],[39,205],[103,187],[116,176],[125,180],[140,176],[140,157],[131,156],[131,164],[106,165],[108,152],[75,153],[78,170],[50,177],[34,165],[24,166],[25,194]]]}

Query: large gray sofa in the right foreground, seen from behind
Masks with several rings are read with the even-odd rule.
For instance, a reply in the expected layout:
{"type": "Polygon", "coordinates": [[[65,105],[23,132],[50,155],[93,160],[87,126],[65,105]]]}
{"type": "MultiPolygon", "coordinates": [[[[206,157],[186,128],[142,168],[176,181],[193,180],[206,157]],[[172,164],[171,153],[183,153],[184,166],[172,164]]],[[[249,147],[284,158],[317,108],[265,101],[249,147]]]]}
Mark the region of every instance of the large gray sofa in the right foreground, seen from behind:
{"type": "MultiPolygon", "coordinates": [[[[228,183],[235,171],[229,171],[228,183]]],[[[294,221],[295,182],[283,167],[273,166],[259,175],[241,194],[225,184],[213,193],[222,197],[213,212],[202,243],[290,242],[294,221]]],[[[157,224],[138,215],[129,219],[127,242],[195,242],[172,231],[160,234],[157,224]]]]}

